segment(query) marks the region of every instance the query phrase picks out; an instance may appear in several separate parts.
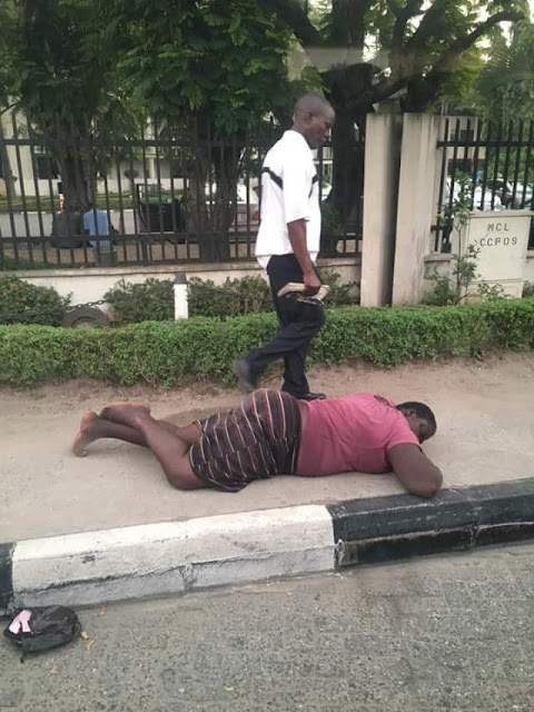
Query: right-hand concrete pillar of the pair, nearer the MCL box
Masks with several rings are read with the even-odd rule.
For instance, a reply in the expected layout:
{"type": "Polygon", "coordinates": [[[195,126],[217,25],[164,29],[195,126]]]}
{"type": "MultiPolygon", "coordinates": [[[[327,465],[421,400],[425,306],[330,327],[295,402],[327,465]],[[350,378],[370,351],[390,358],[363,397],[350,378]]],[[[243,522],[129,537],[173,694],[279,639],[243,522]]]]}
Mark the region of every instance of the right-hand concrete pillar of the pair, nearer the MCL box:
{"type": "Polygon", "coordinates": [[[393,277],[395,306],[418,304],[423,297],[425,256],[437,212],[436,172],[442,165],[437,141],[443,123],[441,117],[426,113],[404,115],[393,277]]]}

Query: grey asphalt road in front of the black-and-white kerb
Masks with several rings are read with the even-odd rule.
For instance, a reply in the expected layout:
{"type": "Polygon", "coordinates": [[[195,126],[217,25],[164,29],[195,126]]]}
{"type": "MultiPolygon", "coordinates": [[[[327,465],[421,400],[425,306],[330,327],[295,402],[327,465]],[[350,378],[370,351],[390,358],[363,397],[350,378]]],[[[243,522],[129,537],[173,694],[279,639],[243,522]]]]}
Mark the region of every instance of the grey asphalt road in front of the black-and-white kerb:
{"type": "Polygon", "coordinates": [[[534,545],[80,611],[0,710],[531,712],[534,545]]]}

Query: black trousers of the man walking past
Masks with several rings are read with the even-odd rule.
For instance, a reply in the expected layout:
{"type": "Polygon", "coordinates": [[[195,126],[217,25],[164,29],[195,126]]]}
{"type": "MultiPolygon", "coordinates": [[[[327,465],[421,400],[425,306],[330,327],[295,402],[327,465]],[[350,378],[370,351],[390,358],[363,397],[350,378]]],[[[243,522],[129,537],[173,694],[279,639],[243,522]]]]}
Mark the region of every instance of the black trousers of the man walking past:
{"type": "Polygon", "coordinates": [[[320,303],[303,304],[294,296],[277,296],[278,290],[288,281],[304,281],[303,270],[295,255],[273,256],[267,266],[267,275],[280,330],[273,342],[253,349],[246,360],[253,375],[257,377],[268,364],[284,358],[281,389],[299,398],[309,393],[306,357],[309,343],[325,323],[325,309],[320,303]]]}

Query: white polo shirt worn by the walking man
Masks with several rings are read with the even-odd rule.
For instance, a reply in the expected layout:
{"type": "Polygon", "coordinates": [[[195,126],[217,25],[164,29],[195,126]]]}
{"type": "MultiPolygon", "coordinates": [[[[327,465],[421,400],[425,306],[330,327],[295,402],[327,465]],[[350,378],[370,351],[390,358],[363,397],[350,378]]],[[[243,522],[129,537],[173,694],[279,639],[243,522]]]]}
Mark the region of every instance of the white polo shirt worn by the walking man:
{"type": "Polygon", "coordinates": [[[256,258],[261,267],[273,255],[293,253],[287,224],[301,219],[315,263],[320,240],[319,181],[312,149],[298,131],[286,131],[265,157],[260,216],[256,258]]]}

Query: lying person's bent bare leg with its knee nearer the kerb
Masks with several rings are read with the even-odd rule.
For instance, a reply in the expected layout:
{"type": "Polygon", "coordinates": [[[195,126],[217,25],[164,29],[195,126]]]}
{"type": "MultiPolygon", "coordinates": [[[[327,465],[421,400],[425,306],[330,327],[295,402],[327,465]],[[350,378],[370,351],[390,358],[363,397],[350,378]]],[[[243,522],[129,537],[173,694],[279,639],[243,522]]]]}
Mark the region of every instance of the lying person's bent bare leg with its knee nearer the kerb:
{"type": "MultiPolygon", "coordinates": [[[[192,472],[189,462],[190,444],[176,432],[171,432],[159,421],[152,418],[148,408],[138,407],[137,404],[122,403],[113,404],[105,408],[102,413],[113,417],[116,423],[138,431],[145,437],[147,446],[159,459],[167,479],[172,486],[180,490],[198,490],[206,486],[192,472]]],[[[198,427],[197,433],[199,433],[198,427]]]]}

